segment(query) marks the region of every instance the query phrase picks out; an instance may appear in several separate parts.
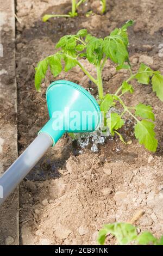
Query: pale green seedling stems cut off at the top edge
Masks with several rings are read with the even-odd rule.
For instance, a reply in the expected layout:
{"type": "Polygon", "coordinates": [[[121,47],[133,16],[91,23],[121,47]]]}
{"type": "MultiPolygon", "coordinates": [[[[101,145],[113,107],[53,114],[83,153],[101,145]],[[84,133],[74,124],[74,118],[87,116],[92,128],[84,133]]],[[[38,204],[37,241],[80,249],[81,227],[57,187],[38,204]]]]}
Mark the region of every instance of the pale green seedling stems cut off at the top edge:
{"type": "MultiPolygon", "coordinates": [[[[68,14],[46,14],[43,16],[42,21],[46,22],[48,21],[50,18],[52,17],[76,17],[78,16],[78,8],[79,6],[84,3],[86,0],[72,0],[71,1],[71,11],[68,14]]],[[[101,13],[104,14],[106,11],[106,0],[101,0],[101,4],[102,4],[102,11],[101,13]]],[[[89,16],[91,14],[91,11],[89,11],[89,13],[86,14],[86,16],[89,16]]]]}

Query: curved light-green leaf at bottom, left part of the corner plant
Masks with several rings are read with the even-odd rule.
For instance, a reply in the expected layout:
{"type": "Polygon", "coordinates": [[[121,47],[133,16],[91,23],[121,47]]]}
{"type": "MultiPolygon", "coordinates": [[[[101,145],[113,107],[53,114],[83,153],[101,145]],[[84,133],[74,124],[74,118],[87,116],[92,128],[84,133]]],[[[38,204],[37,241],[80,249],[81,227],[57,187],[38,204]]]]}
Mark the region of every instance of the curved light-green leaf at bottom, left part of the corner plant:
{"type": "Polygon", "coordinates": [[[104,244],[107,234],[112,234],[116,237],[120,245],[127,245],[137,237],[136,228],[129,223],[112,223],[104,225],[104,229],[99,231],[98,242],[104,244]]]}

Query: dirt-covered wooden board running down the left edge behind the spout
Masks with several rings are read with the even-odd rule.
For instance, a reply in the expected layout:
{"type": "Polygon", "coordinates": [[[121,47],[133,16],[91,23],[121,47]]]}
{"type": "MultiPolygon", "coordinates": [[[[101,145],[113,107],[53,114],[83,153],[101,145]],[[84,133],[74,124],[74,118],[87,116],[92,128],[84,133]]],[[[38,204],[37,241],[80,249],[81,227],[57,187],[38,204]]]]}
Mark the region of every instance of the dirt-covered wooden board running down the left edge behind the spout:
{"type": "MultiPolygon", "coordinates": [[[[0,0],[0,175],[17,158],[15,2],[0,0]]],[[[0,206],[0,245],[18,245],[18,188],[0,206]]]]}

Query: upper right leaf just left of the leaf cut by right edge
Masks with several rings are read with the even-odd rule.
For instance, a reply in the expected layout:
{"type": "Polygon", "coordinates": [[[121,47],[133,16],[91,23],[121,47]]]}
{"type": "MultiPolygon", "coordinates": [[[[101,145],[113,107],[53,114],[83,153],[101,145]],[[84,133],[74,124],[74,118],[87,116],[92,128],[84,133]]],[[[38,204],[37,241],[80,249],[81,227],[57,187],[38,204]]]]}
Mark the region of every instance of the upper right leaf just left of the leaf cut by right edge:
{"type": "Polygon", "coordinates": [[[135,76],[135,78],[137,79],[137,82],[142,84],[149,84],[150,77],[153,75],[152,69],[150,69],[145,64],[141,63],[138,73],[140,72],[141,74],[137,74],[135,76]]]}

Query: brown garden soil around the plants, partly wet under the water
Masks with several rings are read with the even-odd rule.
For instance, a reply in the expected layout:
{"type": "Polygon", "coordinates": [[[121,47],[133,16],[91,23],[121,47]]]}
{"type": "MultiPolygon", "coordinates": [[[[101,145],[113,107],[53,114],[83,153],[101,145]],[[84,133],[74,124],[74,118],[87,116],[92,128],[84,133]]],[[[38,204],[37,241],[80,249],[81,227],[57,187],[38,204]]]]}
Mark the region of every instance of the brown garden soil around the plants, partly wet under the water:
{"type": "MultiPolygon", "coordinates": [[[[17,16],[21,21],[17,22],[16,37],[19,154],[48,120],[45,92],[54,78],[48,74],[42,84],[42,93],[36,93],[34,67],[55,51],[54,45],[62,35],[87,28],[92,34],[104,37],[123,22],[133,19],[135,26],[129,28],[130,58],[131,62],[133,59],[134,63],[137,62],[133,64],[133,70],[138,68],[140,56],[145,55],[153,58],[152,68],[163,73],[162,58],[158,57],[163,32],[162,0],[114,0],[103,16],[97,13],[86,18],[81,12],[75,19],[57,18],[43,23],[43,14],[63,13],[70,8],[67,4],[53,6],[57,2],[17,0],[17,16]]],[[[87,5],[86,11],[89,9],[90,5],[87,5]]],[[[85,62],[85,65],[92,75],[95,74],[90,64],[85,62]]],[[[126,76],[125,71],[116,73],[114,65],[108,61],[103,74],[105,92],[115,92],[126,76]]],[[[92,87],[93,94],[97,93],[95,86],[78,68],[67,74],[62,72],[58,79],[71,80],[85,88],[92,87]]],[[[89,149],[79,154],[75,143],[64,136],[21,183],[20,232],[23,245],[94,245],[97,231],[104,223],[130,221],[137,211],[144,213],[135,223],[141,230],[151,230],[158,237],[163,233],[163,105],[151,87],[138,86],[136,82],[133,86],[135,93],[126,102],[153,106],[159,139],[157,152],[151,154],[138,144],[129,123],[122,133],[133,143],[124,145],[117,138],[108,139],[98,154],[89,149]]],[[[114,240],[108,239],[107,243],[112,244],[114,240]]]]}

